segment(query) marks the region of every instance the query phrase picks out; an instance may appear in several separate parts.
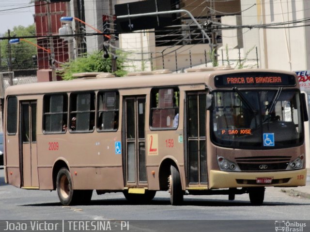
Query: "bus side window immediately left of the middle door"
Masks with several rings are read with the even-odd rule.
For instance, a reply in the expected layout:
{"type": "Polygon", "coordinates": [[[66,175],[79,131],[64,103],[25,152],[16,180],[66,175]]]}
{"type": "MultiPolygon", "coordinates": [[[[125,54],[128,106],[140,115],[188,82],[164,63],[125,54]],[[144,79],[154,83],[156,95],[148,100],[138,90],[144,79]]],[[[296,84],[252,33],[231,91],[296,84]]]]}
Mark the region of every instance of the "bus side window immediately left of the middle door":
{"type": "Polygon", "coordinates": [[[117,131],[119,125],[118,92],[99,92],[97,101],[97,130],[117,131]]]}

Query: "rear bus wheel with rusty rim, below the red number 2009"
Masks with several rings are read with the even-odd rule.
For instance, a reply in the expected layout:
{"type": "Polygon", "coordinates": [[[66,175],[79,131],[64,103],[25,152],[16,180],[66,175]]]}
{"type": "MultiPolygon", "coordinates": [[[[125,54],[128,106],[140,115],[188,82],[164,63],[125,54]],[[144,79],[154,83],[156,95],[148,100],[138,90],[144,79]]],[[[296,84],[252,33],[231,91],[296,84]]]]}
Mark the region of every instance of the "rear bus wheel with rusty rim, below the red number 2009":
{"type": "Polygon", "coordinates": [[[70,172],[66,168],[62,168],[57,174],[56,188],[60,202],[62,205],[76,204],[79,192],[73,189],[73,182],[70,172]]]}

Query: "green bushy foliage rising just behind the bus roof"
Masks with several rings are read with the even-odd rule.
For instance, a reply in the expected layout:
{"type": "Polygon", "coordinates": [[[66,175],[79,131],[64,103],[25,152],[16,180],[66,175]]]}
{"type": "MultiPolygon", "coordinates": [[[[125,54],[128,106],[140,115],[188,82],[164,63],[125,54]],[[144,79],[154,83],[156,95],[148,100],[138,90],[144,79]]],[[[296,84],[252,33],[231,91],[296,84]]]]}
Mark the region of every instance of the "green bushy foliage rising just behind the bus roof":
{"type": "MultiPolygon", "coordinates": [[[[117,52],[118,58],[116,59],[117,70],[114,73],[116,76],[124,76],[127,72],[124,70],[125,55],[117,52]]],[[[74,79],[73,73],[85,73],[85,72],[105,72],[111,73],[111,56],[109,58],[103,58],[103,51],[94,52],[93,54],[85,54],[83,57],[76,58],[75,60],[66,62],[62,65],[62,71],[59,74],[63,80],[74,79]]]]}

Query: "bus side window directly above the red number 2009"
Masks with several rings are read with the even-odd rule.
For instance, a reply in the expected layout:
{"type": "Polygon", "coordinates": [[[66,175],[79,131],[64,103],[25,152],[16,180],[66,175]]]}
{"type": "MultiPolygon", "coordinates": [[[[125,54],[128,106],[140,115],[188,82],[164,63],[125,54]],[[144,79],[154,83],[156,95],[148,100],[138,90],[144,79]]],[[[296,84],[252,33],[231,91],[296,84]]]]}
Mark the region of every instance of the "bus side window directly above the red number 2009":
{"type": "Polygon", "coordinates": [[[65,133],[68,118],[68,96],[66,94],[45,95],[43,131],[65,133]]]}

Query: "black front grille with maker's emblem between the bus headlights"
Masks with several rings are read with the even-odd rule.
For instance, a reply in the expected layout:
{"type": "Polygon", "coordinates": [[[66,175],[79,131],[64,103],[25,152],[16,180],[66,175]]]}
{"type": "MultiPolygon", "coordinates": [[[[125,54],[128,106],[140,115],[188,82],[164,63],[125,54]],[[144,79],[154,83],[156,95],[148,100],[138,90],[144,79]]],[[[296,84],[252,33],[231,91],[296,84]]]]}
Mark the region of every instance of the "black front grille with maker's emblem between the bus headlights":
{"type": "Polygon", "coordinates": [[[257,156],[235,158],[241,171],[279,171],[285,170],[290,156],[257,156]]]}

